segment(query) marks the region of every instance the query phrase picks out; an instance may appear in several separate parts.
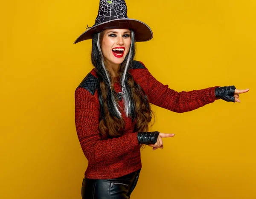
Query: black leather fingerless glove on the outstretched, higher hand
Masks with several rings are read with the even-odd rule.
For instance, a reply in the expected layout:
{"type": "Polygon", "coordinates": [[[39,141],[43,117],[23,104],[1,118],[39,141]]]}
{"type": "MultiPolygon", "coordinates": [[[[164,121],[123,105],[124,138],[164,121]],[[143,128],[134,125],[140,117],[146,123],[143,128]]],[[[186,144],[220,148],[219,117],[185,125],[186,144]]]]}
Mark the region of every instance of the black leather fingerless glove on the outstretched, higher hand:
{"type": "Polygon", "coordinates": [[[215,88],[215,96],[227,102],[235,102],[235,97],[233,97],[235,89],[236,87],[234,85],[215,88]]]}

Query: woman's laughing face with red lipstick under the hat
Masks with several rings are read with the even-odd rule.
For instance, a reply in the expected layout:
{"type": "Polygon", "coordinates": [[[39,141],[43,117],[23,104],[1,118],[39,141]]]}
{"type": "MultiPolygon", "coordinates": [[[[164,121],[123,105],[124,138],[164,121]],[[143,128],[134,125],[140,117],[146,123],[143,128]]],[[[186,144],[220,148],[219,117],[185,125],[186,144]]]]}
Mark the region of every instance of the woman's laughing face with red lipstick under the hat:
{"type": "Polygon", "coordinates": [[[102,53],[110,64],[121,64],[131,45],[129,29],[106,29],[102,38],[102,53]]]}

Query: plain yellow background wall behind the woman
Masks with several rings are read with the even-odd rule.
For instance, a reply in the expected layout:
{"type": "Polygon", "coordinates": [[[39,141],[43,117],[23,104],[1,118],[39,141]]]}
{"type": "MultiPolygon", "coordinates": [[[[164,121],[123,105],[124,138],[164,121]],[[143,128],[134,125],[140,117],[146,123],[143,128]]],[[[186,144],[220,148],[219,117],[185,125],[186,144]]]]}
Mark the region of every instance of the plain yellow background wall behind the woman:
{"type": "MultiPolygon", "coordinates": [[[[250,88],[241,103],[183,114],[153,106],[152,131],[175,133],[142,151],[133,199],[256,198],[256,1],[126,0],[151,27],[136,60],[176,91],[250,88]]],[[[74,91],[93,68],[99,0],[5,1],[1,11],[0,198],[81,199],[87,167],[76,135],[74,91]]]]}

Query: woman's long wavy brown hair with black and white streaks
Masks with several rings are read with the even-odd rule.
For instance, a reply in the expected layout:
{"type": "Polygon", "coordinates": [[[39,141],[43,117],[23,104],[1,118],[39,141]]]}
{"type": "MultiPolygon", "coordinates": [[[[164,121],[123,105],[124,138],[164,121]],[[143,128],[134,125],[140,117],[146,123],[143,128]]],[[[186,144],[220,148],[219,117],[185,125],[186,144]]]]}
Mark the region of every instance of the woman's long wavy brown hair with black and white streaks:
{"type": "MultiPolygon", "coordinates": [[[[92,41],[91,61],[95,67],[98,76],[98,94],[100,104],[99,131],[102,139],[122,136],[124,133],[125,122],[115,112],[118,106],[118,97],[113,95],[114,80],[111,78],[110,71],[105,67],[105,59],[102,54],[101,44],[105,31],[95,34],[92,41]],[[109,80],[109,81],[108,81],[109,80]],[[109,83],[110,82],[110,83],[109,83]]],[[[131,31],[131,47],[125,60],[121,63],[117,76],[124,75],[125,66],[132,68],[132,61],[135,56],[135,38],[134,32],[131,31]]],[[[148,98],[143,89],[138,85],[129,71],[125,74],[126,95],[129,97],[130,110],[129,117],[132,122],[136,123],[134,131],[148,131],[148,124],[151,122],[154,112],[148,102],[148,98]]],[[[154,124],[154,123],[153,123],[154,124]]],[[[151,126],[153,125],[151,124],[151,126]]],[[[142,145],[143,146],[143,145],[142,145]]]]}

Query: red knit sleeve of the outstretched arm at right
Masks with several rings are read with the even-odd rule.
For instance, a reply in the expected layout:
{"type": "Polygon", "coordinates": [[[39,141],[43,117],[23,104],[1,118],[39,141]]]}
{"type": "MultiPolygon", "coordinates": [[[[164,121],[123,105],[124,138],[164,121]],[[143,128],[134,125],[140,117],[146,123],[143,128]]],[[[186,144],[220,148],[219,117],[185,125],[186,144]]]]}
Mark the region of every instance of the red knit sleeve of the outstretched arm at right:
{"type": "MultiPolygon", "coordinates": [[[[143,64],[142,62],[140,63],[143,64]]],[[[145,67],[144,64],[143,66],[145,67]]],[[[145,70],[146,80],[142,84],[146,90],[148,101],[151,104],[177,113],[183,113],[195,110],[214,102],[215,99],[219,99],[215,97],[215,88],[220,86],[177,92],[169,88],[169,85],[163,85],[157,81],[148,71],[148,68],[145,67],[143,70],[145,70]]]]}

